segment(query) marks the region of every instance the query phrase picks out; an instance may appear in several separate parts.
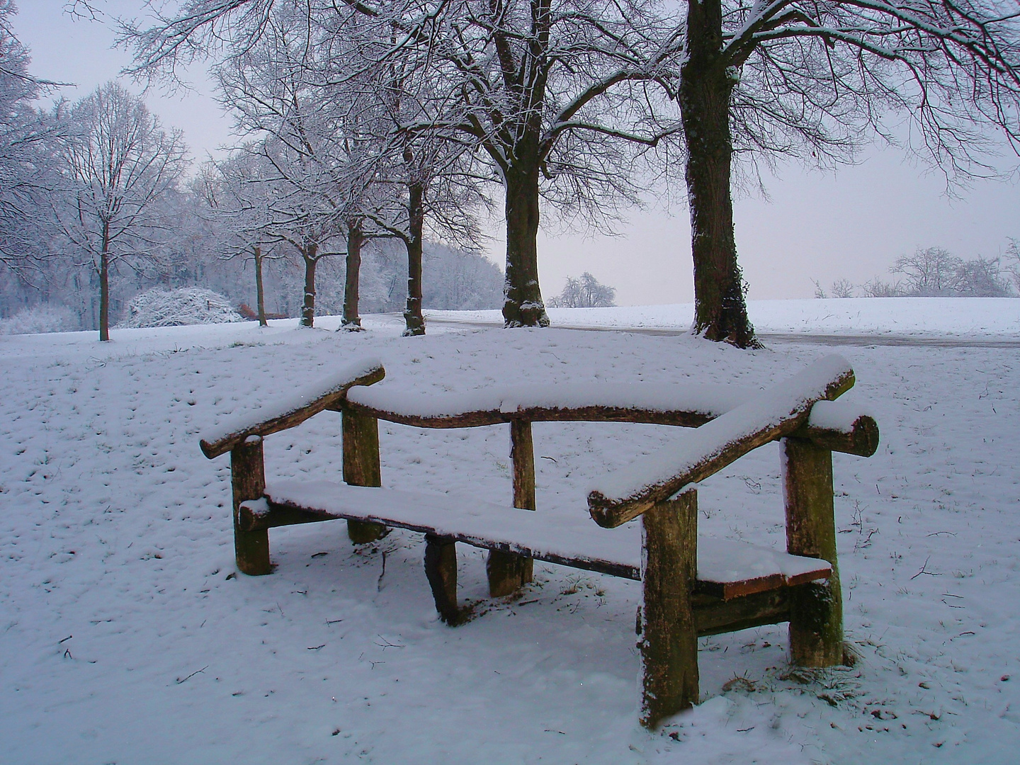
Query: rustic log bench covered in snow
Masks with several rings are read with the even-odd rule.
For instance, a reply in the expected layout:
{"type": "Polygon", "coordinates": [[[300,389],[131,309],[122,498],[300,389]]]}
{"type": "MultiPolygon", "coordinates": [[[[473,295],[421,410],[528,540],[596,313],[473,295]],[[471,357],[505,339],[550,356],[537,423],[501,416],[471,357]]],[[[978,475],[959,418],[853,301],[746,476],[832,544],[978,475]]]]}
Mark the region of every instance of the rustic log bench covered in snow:
{"type": "Polygon", "coordinates": [[[425,574],[437,610],[451,625],[464,616],[457,603],[458,542],[490,551],[493,597],[530,581],[534,559],[639,580],[641,721],[650,727],[698,702],[698,635],[788,621],[792,661],[812,667],[843,661],[831,452],[870,456],[878,428],[871,417],[833,401],[854,385],[853,370],[840,357],[822,359],[765,392],[529,385],[408,396],[386,386],[368,388],[384,376],[376,361],[349,364],[271,406],[230,418],[202,439],[210,459],[231,453],[241,571],[270,572],[271,527],[346,519],[355,543],[372,542],[387,527],[424,534],[425,574]],[[342,413],[344,482],[267,484],[262,439],[326,409],[342,413]],[[509,423],[512,504],[382,489],[379,419],[440,428],[509,423]],[[682,428],[667,447],[598,480],[588,496],[588,515],[565,515],[527,512],[536,509],[536,421],[682,428]],[[782,442],[786,552],[699,539],[694,484],[776,440],[782,442]],[[640,525],[627,523],[638,517],[640,525]]]}

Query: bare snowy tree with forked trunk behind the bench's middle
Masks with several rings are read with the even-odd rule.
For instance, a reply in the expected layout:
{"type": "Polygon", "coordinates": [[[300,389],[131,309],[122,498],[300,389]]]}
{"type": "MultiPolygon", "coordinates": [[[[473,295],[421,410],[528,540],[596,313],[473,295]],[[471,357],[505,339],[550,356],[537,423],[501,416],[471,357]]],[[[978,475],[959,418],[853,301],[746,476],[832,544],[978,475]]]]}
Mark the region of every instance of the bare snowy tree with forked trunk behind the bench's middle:
{"type": "MultiPolygon", "coordinates": [[[[128,27],[138,70],[172,71],[225,40],[246,48],[272,0],[189,0],[148,30],[128,27]]],[[[593,220],[636,200],[640,152],[679,130],[650,84],[678,46],[663,44],[651,0],[418,0],[305,3],[344,29],[372,30],[365,67],[422,51],[444,126],[476,146],[505,193],[507,326],[547,325],[539,288],[540,199],[593,220]]],[[[668,29],[669,24],[666,24],[668,29]]],[[[674,36],[675,37],[675,36],[674,36]]],[[[407,125],[413,129],[415,125],[407,125]]],[[[434,128],[430,122],[428,128],[434,128]]]]}

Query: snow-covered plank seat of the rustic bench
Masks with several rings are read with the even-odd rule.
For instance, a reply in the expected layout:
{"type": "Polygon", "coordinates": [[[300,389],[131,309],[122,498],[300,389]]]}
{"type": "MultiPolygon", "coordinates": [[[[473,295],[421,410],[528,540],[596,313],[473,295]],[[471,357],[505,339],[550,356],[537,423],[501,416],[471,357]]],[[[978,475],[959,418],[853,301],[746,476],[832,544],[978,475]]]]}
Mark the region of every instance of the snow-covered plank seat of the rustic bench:
{"type": "MultiPolygon", "coordinates": [[[[488,550],[641,579],[641,530],[636,523],[610,531],[594,525],[581,512],[568,515],[520,510],[460,495],[326,480],[276,481],[266,487],[265,495],[265,499],[241,505],[240,524],[246,530],[294,523],[296,511],[306,516],[305,521],[346,518],[382,523],[488,550]]],[[[830,570],[824,560],[743,542],[698,541],[697,592],[723,599],[825,578],[830,570]]]]}

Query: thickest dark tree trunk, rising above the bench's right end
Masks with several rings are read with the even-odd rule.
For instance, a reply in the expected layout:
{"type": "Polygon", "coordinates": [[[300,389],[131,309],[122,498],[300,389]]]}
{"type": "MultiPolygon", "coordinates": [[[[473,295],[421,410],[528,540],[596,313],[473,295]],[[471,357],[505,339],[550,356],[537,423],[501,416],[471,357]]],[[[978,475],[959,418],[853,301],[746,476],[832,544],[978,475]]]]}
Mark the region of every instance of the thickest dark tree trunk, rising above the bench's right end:
{"type": "Polygon", "coordinates": [[[679,102],[687,147],[691,250],[695,266],[694,329],[738,348],[757,346],[736,264],[729,106],[734,81],[722,50],[720,0],[687,3],[687,60],[679,102]]]}

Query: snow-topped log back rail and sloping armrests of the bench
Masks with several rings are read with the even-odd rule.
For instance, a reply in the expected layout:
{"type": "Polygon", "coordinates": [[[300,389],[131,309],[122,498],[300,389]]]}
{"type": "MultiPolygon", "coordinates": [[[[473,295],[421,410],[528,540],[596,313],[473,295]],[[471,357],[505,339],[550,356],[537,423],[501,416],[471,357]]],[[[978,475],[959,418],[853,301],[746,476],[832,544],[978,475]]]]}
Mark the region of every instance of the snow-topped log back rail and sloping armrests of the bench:
{"type": "MultiPolygon", "coordinates": [[[[464,394],[432,395],[367,388],[385,375],[375,359],[347,364],[273,404],[228,418],[204,434],[202,451],[211,459],[250,436],[294,427],[326,409],[352,415],[352,424],[355,419],[362,423],[382,419],[418,427],[455,428],[509,422],[514,505],[533,509],[531,422],[683,426],[684,432],[675,444],[592,487],[588,498],[592,517],[602,526],[614,527],[777,439],[805,439],[830,451],[861,456],[874,454],[878,445],[873,418],[832,402],[854,385],[854,371],[839,356],[823,358],[764,392],[736,386],[645,382],[494,386],[464,394]]],[[[377,452],[377,438],[371,441],[377,452]]],[[[347,452],[345,449],[345,463],[347,452]]],[[[377,454],[374,459],[377,461],[377,454]]]]}

